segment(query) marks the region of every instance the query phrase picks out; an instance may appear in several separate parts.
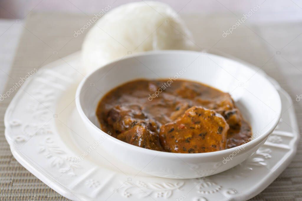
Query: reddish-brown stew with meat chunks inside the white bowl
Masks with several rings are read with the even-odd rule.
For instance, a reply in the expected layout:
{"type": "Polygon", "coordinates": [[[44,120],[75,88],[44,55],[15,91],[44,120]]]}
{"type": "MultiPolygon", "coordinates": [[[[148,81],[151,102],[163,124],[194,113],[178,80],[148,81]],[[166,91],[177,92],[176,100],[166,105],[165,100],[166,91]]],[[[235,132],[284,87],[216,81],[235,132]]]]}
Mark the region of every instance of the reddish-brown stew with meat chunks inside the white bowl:
{"type": "Polygon", "coordinates": [[[188,80],[124,83],[101,99],[96,115],[113,137],[165,152],[213,152],[252,135],[229,93],[188,80]]]}

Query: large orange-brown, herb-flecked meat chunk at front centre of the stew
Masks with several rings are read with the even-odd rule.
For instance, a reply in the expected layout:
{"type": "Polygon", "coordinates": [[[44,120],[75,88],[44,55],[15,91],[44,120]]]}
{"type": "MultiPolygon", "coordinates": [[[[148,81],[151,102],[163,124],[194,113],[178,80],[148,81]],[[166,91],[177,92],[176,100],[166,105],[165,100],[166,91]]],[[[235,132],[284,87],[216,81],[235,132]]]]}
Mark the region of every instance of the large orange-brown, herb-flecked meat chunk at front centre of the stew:
{"type": "Polygon", "coordinates": [[[162,125],[159,138],[166,151],[201,153],[223,150],[229,125],[213,110],[194,106],[171,123],[162,125]]]}

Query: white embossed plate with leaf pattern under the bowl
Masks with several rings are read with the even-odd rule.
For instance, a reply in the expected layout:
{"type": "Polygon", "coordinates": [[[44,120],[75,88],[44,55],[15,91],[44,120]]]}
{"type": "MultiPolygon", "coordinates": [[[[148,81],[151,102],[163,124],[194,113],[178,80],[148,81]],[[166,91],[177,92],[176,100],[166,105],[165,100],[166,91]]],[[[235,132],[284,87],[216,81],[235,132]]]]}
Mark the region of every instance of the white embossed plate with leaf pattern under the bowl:
{"type": "Polygon", "coordinates": [[[281,122],[242,164],[198,179],[120,170],[118,161],[87,134],[76,111],[74,94],[83,78],[79,53],[63,60],[40,69],[18,91],[5,114],[5,137],[21,165],[69,199],[246,200],[274,181],[296,152],[299,135],[292,102],[273,81],[282,101],[281,122]]]}

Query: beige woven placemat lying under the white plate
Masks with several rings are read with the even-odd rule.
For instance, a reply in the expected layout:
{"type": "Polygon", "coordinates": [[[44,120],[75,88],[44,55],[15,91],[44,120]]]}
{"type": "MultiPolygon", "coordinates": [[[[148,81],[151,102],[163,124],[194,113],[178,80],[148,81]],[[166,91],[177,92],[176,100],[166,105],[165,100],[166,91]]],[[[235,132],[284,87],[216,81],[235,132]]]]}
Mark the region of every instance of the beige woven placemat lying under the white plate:
{"type": "MultiPolygon", "coordinates": [[[[271,58],[272,52],[266,48],[267,44],[257,36],[257,33],[254,33],[254,30],[249,30],[250,27],[242,27],[236,33],[233,33],[232,36],[224,39],[221,37],[221,29],[226,30],[234,23],[232,17],[183,17],[188,27],[192,28],[191,30],[194,28],[193,34],[194,38],[197,39],[196,44],[198,46],[205,49],[217,49],[228,52],[230,55],[257,66],[265,64],[263,69],[271,77],[275,78],[290,93],[292,98],[296,96],[292,92],[292,86],[288,85],[288,77],[283,76],[278,71],[278,66],[275,65],[273,59],[267,62],[271,58]]],[[[38,69],[51,61],[59,59],[59,57],[64,57],[80,50],[84,34],[76,38],[73,37],[73,34],[75,30],[83,27],[88,19],[90,17],[84,14],[31,13],[27,17],[26,23],[21,25],[24,26],[23,33],[4,92],[8,91],[15,82],[20,80],[20,77],[24,77],[33,68],[38,69]]],[[[300,83],[299,77],[295,79],[296,85],[300,83]]],[[[5,110],[16,91],[0,102],[1,200],[68,200],[27,171],[11,154],[4,137],[3,118],[5,110]]],[[[301,128],[302,109],[299,104],[294,102],[301,128]]],[[[248,184],[246,184],[246,187],[249,188],[248,184]]],[[[302,146],[300,142],[297,155],[289,167],[276,181],[251,200],[302,200],[301,194],[302,146]]]]}

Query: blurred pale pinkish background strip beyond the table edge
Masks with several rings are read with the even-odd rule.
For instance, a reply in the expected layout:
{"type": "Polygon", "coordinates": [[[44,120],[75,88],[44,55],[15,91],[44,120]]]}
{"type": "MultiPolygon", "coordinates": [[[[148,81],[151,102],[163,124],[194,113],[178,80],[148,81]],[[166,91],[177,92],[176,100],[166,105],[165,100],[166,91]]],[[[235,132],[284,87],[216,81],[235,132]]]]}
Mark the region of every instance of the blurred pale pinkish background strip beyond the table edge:
{"type": "MultiPolygon", "coordinates": [[[[302,20],[302,0],[159,0],[181,13],[244,14],[257,4],[261,9],[250,20],[302,20]]],[[[23,19],[30,11],[62,11],[92,14],[107,5],[117,7],[134,0],[0,0],[0,18],[23,19]]]]}

